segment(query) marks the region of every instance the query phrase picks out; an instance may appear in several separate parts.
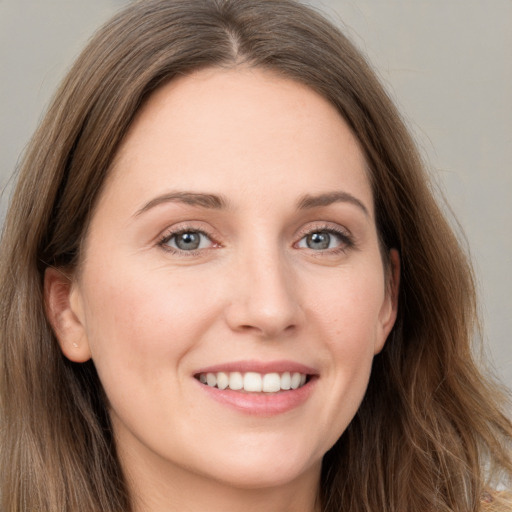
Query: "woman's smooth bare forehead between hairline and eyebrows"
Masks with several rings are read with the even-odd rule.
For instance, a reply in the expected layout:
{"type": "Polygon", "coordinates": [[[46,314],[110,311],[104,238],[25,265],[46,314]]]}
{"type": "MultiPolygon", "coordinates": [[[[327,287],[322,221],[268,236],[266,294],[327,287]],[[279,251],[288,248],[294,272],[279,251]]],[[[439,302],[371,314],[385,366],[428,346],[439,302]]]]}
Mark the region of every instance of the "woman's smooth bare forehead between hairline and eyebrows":
{"type": "Polygon", "coordinates": [[[282,195],[348,187],[371,207],[364,156],[336,108],[303,84],[253,68],[205,69],[158,89],[106,188],[128,183],[135,202],[162,188],[282,195]]]}

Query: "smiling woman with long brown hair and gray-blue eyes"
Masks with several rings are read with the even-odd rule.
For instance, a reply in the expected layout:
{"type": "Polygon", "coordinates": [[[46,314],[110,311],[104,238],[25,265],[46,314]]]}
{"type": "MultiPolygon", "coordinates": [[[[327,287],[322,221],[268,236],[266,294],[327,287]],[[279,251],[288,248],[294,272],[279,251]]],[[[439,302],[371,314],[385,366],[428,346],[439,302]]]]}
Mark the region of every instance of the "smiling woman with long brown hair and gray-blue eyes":
{"type": "Polygon", "coordinates": [[[0,276],[5,511],[507,507],[467,259],[304,6],[114,18],[34,136],[0,276]]]}

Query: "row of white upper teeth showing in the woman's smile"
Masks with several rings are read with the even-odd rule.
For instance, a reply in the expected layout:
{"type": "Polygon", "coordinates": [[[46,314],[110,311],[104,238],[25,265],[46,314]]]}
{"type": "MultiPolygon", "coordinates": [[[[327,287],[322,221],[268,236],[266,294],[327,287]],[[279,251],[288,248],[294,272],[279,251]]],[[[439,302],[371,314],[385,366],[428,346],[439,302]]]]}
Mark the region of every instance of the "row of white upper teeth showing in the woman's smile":
{"type": "Polygon", "coordinates": [[[244,390],[249,393],[277,393],[298,389],[306,384],[307,375],[299,372],[265,373],[217,372],[201,373],[198,379],[203,384],[219,389],[244,390]]]}

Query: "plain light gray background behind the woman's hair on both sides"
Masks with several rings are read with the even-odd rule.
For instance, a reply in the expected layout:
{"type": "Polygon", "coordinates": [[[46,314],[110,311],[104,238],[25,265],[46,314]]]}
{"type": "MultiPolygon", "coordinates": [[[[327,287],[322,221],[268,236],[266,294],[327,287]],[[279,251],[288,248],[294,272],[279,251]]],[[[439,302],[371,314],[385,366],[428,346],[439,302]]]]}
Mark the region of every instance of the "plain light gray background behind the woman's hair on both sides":
{"type": "MultiPolygon", "coordinates": [[[[126,3],[0,0],[0,214],[59,80],[126,3]]],[[[490,355],[512,387],[512,0],[310,3],[368,55],[415,134],[469,240],[490,355]]]]}

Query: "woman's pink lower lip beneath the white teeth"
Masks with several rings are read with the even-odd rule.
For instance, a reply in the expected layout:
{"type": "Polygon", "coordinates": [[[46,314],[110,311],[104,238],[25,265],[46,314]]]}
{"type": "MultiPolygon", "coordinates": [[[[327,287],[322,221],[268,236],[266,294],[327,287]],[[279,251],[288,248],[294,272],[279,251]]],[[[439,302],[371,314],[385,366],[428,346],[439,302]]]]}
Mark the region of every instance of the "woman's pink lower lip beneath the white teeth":
{"type": "Polygon", "coordinates": [[[201,389],[217,402],[253,416],[274,416],[291,411],[302,405],[311,395],[317,378],[311,378],[304,386],[278,393],[244,393],[232,389],[207,386],[196,380],[201,389]]]}

